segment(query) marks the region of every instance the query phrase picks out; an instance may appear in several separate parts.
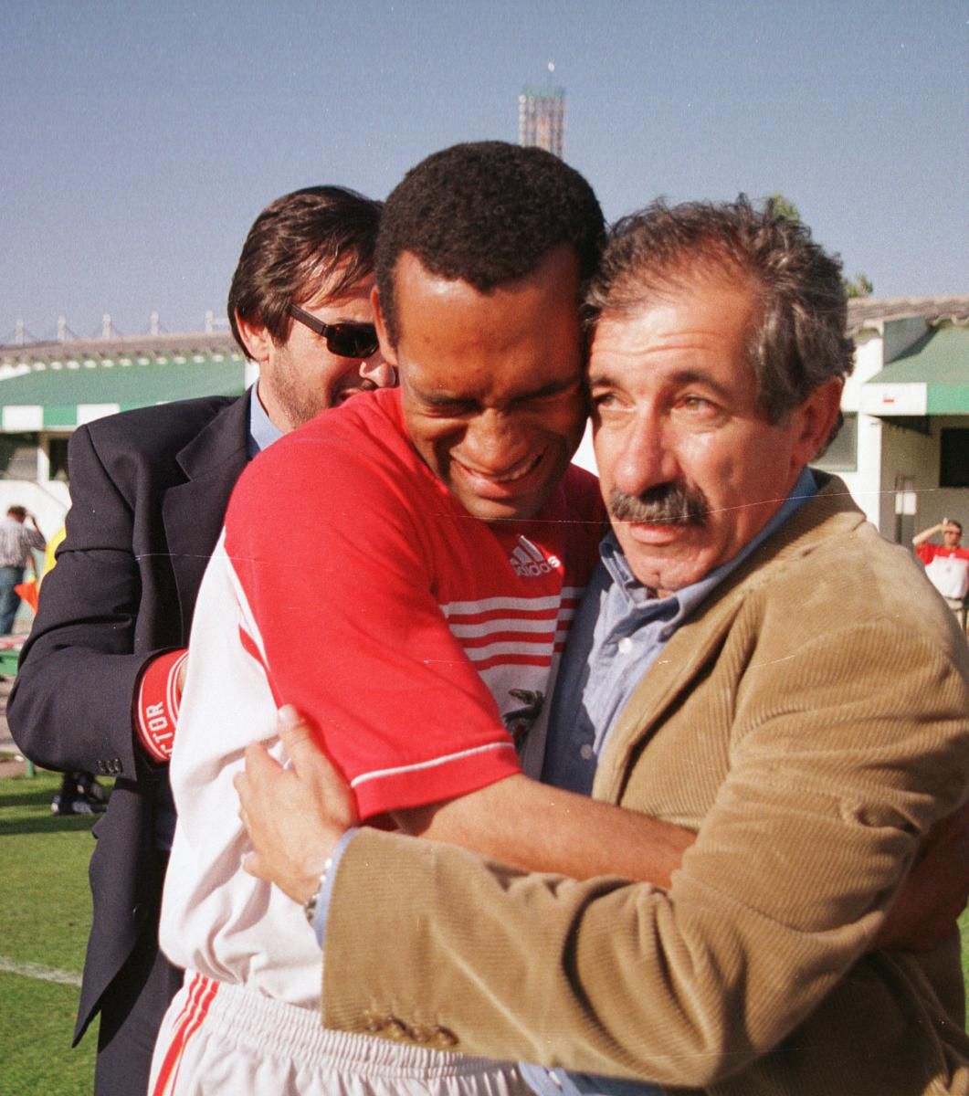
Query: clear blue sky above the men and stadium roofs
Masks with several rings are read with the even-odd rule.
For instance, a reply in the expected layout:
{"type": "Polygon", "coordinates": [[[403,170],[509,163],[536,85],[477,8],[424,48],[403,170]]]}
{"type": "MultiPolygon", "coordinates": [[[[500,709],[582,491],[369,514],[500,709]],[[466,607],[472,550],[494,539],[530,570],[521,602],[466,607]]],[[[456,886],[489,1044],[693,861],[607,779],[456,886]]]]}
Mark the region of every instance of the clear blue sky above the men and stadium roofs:
{"type": "Polygon", "coordinates": [[[955,0],[35,0],[0,39],[0,341],[221,317],[259,210],[377,197],[567,92],[606,216],[782,191],[879,296],[969,292],[955,0]]]}

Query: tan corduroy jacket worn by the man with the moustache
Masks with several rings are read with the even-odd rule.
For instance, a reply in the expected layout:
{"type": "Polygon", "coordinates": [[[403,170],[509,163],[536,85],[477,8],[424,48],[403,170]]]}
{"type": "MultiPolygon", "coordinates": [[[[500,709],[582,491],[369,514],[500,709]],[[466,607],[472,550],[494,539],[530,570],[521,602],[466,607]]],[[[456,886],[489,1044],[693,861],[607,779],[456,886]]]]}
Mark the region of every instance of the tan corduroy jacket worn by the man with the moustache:
{"type": "Polygon", "coordinates": [[[597,798],[698,831],[669,893],[364,831],[335,879],[328,1027],[718,1096],[969,1088],[955,927],[866,954],[969,796],[969,647],[822,479],[675,633],[602,758],[597,798]]]}

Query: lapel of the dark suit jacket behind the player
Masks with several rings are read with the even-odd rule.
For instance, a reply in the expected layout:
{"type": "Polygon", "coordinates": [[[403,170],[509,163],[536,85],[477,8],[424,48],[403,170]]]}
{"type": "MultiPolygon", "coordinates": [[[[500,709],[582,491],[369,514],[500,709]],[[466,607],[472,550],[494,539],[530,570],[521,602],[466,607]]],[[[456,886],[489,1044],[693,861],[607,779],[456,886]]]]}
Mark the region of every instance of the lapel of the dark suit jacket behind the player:
{"type": "Polygon", "coordinates": [[[218,541],[229,495],[249,459],[247,393],[220,411],[178,454],[186,480],[166,492],[162,520],[189,640],[202,575],[218,541]]]}

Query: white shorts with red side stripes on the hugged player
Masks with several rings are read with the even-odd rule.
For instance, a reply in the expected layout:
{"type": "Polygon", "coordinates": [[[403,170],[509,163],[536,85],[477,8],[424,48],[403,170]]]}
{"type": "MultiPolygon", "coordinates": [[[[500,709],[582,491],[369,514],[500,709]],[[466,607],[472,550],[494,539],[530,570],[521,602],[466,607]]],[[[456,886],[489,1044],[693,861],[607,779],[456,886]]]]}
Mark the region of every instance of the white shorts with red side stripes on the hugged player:
{"type": "Polygon", "coordinates": [[[531,1096],[510,1063],[329,1031],[315,1009],[193,971],[164,1015],[150,1096],[531,1096]]]}

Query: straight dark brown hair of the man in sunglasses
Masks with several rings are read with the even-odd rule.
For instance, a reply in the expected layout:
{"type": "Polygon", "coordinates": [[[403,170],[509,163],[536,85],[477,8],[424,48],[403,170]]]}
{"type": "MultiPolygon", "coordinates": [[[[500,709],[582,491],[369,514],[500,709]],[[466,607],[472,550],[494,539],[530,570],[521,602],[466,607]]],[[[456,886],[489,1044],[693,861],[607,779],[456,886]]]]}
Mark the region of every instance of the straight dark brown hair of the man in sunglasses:
{"type": "Polygon", "coordinates": [[[248,355],[237,315],[261,323],[277,345],[293,327],[288,308],[329,286],[335,297],[373,273],[384,204],[344,186],[284,194],[255,218],[229,288],[229,323],[248,355]]]}

